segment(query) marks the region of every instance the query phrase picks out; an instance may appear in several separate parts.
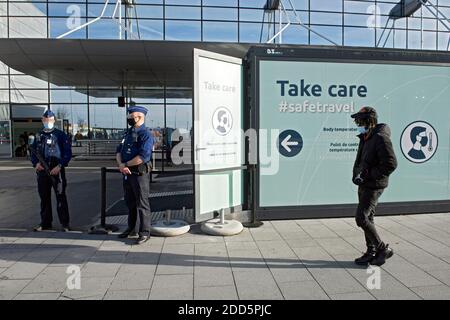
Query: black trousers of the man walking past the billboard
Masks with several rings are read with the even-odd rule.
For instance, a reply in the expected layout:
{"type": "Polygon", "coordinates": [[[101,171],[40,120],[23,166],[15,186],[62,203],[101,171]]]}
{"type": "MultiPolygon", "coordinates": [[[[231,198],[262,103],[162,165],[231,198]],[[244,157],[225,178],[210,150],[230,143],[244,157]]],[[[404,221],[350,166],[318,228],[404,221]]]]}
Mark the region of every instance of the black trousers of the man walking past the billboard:
{"type": "Polygon", "coordinates": [[[363,229],[366,238],[367,248],[377,249],[383,242],[375,228],[375,209],[378,199],[384,189],[370,189],[359,186],[358,188],[358,208],[356,209],[356,224],[363,229]]]}

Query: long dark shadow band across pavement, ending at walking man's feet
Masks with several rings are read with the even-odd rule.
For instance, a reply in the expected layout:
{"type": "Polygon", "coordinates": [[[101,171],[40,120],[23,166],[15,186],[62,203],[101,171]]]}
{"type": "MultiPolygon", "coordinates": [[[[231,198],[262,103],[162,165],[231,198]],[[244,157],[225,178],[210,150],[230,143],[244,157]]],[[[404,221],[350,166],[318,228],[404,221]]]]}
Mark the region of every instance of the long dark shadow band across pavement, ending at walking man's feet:
{"type": "MultiPolygon", "coordinates": [[[[205,237],[210,237],[204,235],[205,237]]],[[[161,253],[151,252],[151,239],[148,243],[139,247],[139,251],[129,251],[126,245],[133,245],[132,239],[118,239],[116,235],[89,235],[82,233],[56,233],[56,232],[40,232],[29,233],[21,231],[7,231],[0,230],[0,237],[24,237],[19,243],[4,242],[0,243],[0,257],[5,256],[8,259],[8,254],[23,252],[18,260],[21,262],[31,263],[48,263],[48,264],[85,264],[87,262],[93,263],[118,263],[124,265],[144,264],[144,265],[162,265],[162,266],[204,266],[204,267],[229,267],[233,268],[317,268],[317,269],[365,269],[365,267],[357,266],[353,261],[326,261],[326,260],[305,260],[305,259],[283,259],[283,258],[252,258],[252,257],[218,257],[218,256],[194,256],[192,254],[178,254],[178,253],[161,253]],[[42,243],[33,239],[51,240],[55,243],[42,243]],[[114,248],[111,250],[98,251],[97,246],[77,245],[76,243],[58,244],[57,240],[79,240],[86,243],[86,241],[109,241],[108,247],[114,248]],[[30,243],[26,243],[29,241],[30,243]],[[124,250],[116,249],[114,242],[117,242],[117,247],[124,246],[124,250]],[[149,249],[145,251],[145,247],[149,249]],[[60,252],[58,252],[60,251],[60,252]],[[57,255],[52,254],[57,253],[57,255]],[[48,260],[46,260],[46,253],[48,260]],[[55,262],[56,261],[56,262],[55,262]]],[[[153,237],[155,238],[155,237],[153,237]]],[[[159,245],[159,244],[158,244],[159,245]]],[[[136,246],[132,246],[136,247],[136,246]]],[[[5,259],[5,258],[3,258],[5,259]]]]}

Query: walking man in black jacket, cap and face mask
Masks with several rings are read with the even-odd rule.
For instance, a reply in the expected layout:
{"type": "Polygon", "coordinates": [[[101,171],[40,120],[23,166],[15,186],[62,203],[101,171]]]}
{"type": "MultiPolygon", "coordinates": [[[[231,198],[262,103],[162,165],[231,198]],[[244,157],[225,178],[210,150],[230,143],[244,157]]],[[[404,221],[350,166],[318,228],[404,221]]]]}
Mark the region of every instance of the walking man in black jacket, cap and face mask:
{"type": "Polygon", "coordinates": [[[374,108],[363,107],[351,116],[358,126],[360,139],[353,166],[353,183],[358,185],[359,204],[356,224],[364,230],[367,251],[355,260],[358,265],[381,266],[394,254],[388,244],[381,241],[374,223],[378,198],[388,186],[389,175],[397,168],[397,159],[390,139],[391,130],[378,124],[374,108]]]}

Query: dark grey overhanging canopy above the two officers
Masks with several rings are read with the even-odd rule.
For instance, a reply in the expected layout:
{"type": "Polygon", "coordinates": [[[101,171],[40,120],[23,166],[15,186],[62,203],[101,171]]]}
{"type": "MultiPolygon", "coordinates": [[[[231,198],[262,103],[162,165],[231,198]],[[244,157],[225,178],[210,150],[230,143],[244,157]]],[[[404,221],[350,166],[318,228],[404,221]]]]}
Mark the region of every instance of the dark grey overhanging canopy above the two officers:
{"type": "Polygon", "coordinates": [[[57,86],[192,87],[194,48],[245,57],[250,44],[0,39],[0,61],[57,86]]]}

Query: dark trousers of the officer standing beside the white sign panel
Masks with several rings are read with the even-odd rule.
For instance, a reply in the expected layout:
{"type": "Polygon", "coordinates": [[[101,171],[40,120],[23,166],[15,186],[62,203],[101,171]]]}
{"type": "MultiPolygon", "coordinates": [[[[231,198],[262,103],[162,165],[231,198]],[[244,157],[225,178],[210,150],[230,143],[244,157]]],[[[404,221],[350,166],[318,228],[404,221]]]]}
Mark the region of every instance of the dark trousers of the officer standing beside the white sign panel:
{"type": "Polygon", "coordinates": [[[139,235],[150,235],[150,174],[133,173],[123,178],[125,203],[128,207],[128,229],[136,228],[139,216],[139,235]]]}

